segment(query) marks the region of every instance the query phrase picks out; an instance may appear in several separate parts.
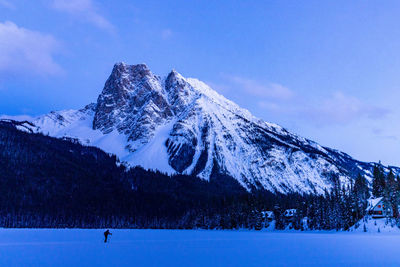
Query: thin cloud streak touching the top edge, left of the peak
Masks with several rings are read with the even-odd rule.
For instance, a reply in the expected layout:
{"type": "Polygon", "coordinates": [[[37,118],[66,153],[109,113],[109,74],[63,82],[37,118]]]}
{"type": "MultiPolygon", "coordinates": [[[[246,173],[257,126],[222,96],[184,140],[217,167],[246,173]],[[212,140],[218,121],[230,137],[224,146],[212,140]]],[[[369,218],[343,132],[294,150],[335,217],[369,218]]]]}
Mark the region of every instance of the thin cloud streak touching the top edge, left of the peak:
{"type": "Polygon", "coordinates": [[[52,7],[56,10],[85,19],[103,30],[109,32],[114,31],[114,26],[97,12],[96,5],[92,0],[53,0],[52,7]]]}

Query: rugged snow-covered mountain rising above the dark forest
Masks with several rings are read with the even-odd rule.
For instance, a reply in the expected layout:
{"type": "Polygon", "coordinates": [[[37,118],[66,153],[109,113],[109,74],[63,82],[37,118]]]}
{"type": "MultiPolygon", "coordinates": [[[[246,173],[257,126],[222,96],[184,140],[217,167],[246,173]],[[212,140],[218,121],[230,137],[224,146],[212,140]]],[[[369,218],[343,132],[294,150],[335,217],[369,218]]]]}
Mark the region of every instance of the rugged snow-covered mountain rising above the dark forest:
{"type": "Polygon", "coordinates": [[[162,79],[145,64],[115,64],[97,103],[31,122],[132,166],[204,179],[223,173],[249,190],[323,193],[334,177],[370,179],[374,165],[264,122],[197,79],[176,71],[162,79]]]}

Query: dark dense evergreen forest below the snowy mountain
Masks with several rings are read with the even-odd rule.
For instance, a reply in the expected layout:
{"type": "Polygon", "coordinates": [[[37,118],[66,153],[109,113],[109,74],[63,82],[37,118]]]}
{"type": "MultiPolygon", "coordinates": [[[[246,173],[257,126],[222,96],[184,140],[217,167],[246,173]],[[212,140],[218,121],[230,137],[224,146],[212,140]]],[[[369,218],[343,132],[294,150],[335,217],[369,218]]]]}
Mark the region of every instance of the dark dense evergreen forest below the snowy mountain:
{"type": "MultiPolygon", "coordinates": [[[[270,210],[278,229],[304,229],[306,218],[308,229],[346,230],[365,215],[370,196],[361,176],[348,186],[336,179],[325,195],[282,195],[248,192],[227,175],[205,181],[128,169],[98,148],[18,124],[0,121],[0,227],[261,229],[270,210]],[[290,222],[288,208],[297,209],[290,222]]],[[[374,196],[397,207],[399,188],[393,173],[375,167],[374,196]]]]}

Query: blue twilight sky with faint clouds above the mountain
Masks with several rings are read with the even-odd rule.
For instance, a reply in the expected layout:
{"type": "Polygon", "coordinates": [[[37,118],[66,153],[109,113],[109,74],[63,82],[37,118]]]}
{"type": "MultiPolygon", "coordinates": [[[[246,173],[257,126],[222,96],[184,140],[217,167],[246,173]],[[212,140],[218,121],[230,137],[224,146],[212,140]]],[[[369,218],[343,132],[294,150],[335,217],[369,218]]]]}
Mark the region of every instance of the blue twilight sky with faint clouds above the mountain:
{"type": "Polygon", "coordinates": [[[0,114],[94,102],[115,62],[176,69],[254,115],[400,165],[399,1],[0,0],[0,114]]]}

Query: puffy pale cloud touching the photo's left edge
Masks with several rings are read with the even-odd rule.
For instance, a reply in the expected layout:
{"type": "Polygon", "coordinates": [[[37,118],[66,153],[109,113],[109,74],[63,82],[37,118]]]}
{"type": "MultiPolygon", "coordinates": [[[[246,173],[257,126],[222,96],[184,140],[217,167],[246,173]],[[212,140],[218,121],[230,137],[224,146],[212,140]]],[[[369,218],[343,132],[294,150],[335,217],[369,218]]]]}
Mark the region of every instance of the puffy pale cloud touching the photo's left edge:
{"type": "Polygon", "coordinates": [[[51,35],[18,27],[10,21],[0,23],[0,73],[59,74],[62,68],[54,60],[59,49],[59,42],[51,35]]]}

